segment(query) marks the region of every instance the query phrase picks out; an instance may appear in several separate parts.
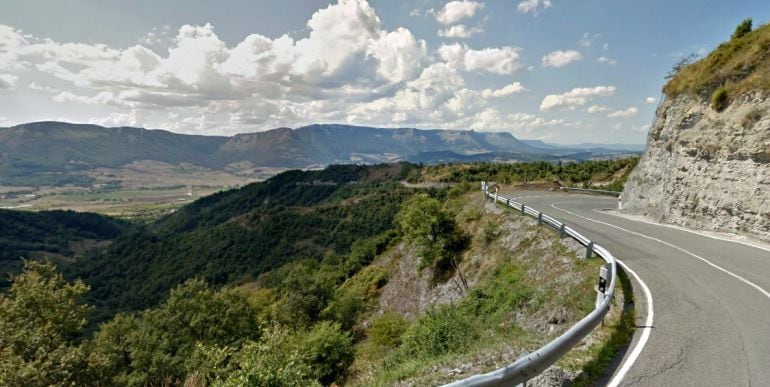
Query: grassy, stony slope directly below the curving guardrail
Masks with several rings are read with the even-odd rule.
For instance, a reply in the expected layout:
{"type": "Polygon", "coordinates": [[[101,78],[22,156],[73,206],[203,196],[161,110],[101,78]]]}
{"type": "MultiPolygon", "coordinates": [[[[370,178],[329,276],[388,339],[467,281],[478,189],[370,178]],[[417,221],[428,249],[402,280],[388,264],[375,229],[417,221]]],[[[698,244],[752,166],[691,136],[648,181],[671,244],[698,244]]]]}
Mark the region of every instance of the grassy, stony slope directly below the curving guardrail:
{"type": "MultiPolygon", "coordinates": [[[[541,347],[593,310],[603,260],[578,259],[557,232],[533,225],[517,211],[485,211],[477,192],[449,205],[474,241],[466,255],[482,257],[464,268],[478,283],[459,302],[413,321],[389,312],[373,318],[358,345],[357,376],[349,385],[435,385],[492,371],[541,347]]],[[[620,326],[616,319],[607,320],[620,326]]],[[[576,348],[565,358],[573,369],[605,367],[599,357],[617,352],[607,344],[613,340],[608,333],[597,335],[593,347],[576,348]]]]}

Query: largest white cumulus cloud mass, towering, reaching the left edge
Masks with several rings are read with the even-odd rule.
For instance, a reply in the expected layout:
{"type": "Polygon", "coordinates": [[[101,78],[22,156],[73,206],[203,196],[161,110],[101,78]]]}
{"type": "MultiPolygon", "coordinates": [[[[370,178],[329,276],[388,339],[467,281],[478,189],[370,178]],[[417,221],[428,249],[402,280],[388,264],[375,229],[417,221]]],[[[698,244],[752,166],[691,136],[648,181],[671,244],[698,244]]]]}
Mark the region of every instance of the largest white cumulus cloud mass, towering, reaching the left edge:
{"type": "MultiPolygon", "coordinates": [[[[230,46],[211,24],[184,25],[170,39],[167,53],[160,54],[141,44],[116,49],[60,43],[0,25],[0,73],[26,69],[80,88],[48,90],[56,102],[209,111],[203,121],[196,115],[196,125],[215,122],[214,115],[259,111],[267,115],[263,124],[270,125],[287,117],[328,116],[308,101],[334,100],[345,111],[345,104],[392,94],[430,62],[424,40],[405,28],[385,30],[365,0],[340,0],[320,9],[307,27],[301,39],[252,34],[230,46]],[[291,109],[255,107],[265,100],[291,109]]],[[[0,87],[12,86],[15,79],[3,75],[0,87]]]]}

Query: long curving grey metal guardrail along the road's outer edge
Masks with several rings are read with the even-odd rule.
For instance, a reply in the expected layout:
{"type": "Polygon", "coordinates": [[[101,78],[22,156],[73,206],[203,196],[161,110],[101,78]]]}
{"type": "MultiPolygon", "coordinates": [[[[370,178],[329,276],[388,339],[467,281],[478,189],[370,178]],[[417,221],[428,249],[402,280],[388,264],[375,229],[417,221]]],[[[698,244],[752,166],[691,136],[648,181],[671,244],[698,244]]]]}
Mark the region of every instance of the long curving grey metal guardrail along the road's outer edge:
{"type": "Polygon", "coordinates": [[[607,264],[600,270],[596,308],[589,313],[588,316],[583,317],[583,319],[578,321],[550,343],[544,345],[533,353],[523,355],[510,365],[489,373],[474,375],[467,379],[447,384],[446,386],[510,386],[525,383],[527,380],[532,379],[545,371],[553,363],[564,356],[567,351],[579,343],[580,340],[586,337],[588,333],[596,328],[610,310],[610,302],[615,294],[617,265],[615,263],[615,257],[613,257],[609,251],[553,217],[532,207],[528,207],[524,205],[524,203],[519,203],[515,200],[498,195],[496,186],[494,186],[494,194],[491,194],[489,192],[490,187],[491,186],[487,185],[486,182],[481,183],[481,189],[485,198],[490,198],[494,200],[495,203],[502,203],[536,218],[540,224],[545,224],[559,231],[562,237],[569,236],[575,239],[586,247],[587,258],[595,253],[602,257],[607,264]]]}

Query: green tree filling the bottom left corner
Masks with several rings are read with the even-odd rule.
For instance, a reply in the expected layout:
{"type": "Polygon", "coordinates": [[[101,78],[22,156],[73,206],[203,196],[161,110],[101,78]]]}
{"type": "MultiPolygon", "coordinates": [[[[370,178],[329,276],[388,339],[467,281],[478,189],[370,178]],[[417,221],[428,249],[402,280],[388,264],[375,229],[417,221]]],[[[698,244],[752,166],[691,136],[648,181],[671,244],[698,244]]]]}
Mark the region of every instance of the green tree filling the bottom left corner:
{"type": "Polygon", "coordinates": [[[75,338],[90,307],[88,287],[66,282],[50,262],[24,262],[0,295],[0,385],[83,384],[85,349],[75,338]]]}

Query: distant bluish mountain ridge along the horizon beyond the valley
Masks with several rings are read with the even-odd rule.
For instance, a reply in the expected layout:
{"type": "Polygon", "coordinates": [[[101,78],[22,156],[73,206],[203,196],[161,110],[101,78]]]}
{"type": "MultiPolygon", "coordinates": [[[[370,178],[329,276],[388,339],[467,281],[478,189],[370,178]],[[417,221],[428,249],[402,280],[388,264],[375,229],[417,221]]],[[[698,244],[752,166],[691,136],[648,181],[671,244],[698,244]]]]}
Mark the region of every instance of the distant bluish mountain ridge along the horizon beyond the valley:
{"type": "Polygon", "coordinates": [[[0,128],[0,183],[63,178],[133,161],[190,163],[221,169],[249,162],[257,167],[310,168],[401,160],[424,163],[584,159],[625,151],[533,146],[510,133],[472,130],[309,125],[234,136],[201,136],[159,129],[35,122],[0,128]]]}

